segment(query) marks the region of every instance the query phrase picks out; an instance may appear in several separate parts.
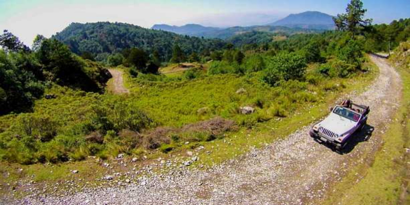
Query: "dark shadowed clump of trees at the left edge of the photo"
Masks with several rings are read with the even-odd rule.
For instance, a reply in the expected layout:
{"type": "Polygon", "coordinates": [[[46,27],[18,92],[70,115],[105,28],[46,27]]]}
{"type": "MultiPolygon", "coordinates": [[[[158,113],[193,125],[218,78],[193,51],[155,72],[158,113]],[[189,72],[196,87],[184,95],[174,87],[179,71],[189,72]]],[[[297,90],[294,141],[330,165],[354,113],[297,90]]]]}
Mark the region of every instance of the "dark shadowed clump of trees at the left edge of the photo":
{"type": "Polygon", "coordinates": [[[111,77],[106,68],[74,55],[56,39],[38,35],[30,49],[5,30],[0,46],[0,114],[27,111],[53,83],[101,92],[111,77]]]}

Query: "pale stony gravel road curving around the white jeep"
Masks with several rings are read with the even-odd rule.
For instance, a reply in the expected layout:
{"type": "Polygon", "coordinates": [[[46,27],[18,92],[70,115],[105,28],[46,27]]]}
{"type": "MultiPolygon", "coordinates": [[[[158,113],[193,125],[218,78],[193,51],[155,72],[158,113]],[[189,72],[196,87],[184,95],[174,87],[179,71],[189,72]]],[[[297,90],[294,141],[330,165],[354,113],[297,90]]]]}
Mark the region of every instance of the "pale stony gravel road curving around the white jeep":
{"type": "MultiPolygon", "coordinates": [[[[283,140],[208,171],[178,169],[136,183],[63,197],[28,196],[19,204],[310,204],[318,201],[358,163],[371,163],[384,130],[399,106],[401,81],[386,60],[371,56],[380,75],[355,103],[371,107],[368,141],[339,154],[314,141],[303,127],[283,140]]],[[[115,77],[118,73],[110,72],[115,77]]],[[[117,78],[117,77],[115,77],[117,78]]],[[[121,77],[119,78],[121,79],[121,77]]],[[[120,80],[118,80],[120,81],[120,80]]],[[[327,112],[327,111],[326,111],[327,112]]],[[[361,133],[360,136],[364,135],[361,133]]]]}

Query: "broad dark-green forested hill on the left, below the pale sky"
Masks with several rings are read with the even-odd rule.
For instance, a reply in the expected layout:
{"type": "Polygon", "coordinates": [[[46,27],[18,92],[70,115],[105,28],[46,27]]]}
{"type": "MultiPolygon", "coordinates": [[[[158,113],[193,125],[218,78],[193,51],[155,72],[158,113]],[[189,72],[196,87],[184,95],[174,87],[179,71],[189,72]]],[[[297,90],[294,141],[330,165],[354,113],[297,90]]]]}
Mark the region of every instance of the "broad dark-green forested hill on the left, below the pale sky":
{"type": "Polygon", "coordinates": [[[218,50],[225,45],[220,39],[203,39],[109,22],[72,23],[53,37],[68,45],[76,54],[92,53],[96,60],[104,60],[110,53],[135,47],[149,53],[157,50],[164,60],[169,60],[175,44],[187,54],[206,49],[218,50]]]}

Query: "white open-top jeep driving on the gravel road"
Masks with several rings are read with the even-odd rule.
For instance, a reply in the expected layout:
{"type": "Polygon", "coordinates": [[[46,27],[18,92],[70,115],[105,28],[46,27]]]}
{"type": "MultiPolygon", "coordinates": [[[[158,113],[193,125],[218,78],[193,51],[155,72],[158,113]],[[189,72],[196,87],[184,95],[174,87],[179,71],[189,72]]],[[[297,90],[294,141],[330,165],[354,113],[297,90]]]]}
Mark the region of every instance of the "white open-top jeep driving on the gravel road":
{"type": "Polygon", "coordinates": [[[369,112],[368,106],[344,100],[341,105],[331,108],[329,116],[313,126],[309,134],[341,151],[353,134],[366,125],[369,112]]]}

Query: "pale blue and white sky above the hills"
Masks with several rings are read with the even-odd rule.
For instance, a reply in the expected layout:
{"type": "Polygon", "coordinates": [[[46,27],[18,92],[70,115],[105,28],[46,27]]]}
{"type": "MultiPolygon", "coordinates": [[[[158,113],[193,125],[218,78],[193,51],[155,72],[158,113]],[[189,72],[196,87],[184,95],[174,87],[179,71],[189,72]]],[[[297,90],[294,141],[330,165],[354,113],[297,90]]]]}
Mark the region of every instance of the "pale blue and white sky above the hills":
{"type": "MultiPolygon", "coordinates": [[[[350,0],[0,0],[0,30],[31,45],[36,34],[51,37],[72,22],[124,22],[231,27],[263,25],[291,13],[336,15],[350,0]]],[[[410,0],[363,0],[366,17],[389,23],[410,17],[410,0]]]]}

